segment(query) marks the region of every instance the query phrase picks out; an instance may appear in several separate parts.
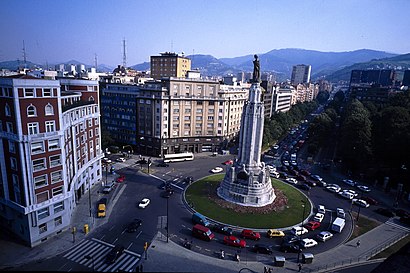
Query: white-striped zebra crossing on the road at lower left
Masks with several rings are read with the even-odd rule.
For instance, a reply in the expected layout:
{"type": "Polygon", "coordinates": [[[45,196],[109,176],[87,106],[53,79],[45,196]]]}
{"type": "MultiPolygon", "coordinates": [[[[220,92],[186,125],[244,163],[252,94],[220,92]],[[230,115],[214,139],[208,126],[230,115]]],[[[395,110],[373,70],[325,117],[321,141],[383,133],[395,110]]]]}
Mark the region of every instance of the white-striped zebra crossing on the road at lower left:
{"type": "Polygon", "coordinates": [[[107,242],[92,238],[84,240],[75,247],[69,250],[63,257],[73,262],[79,263],[88,268],[93,268],[96,271],[132,271],[133,267],[138,263],[141,255],[138,253],[125,250],[124,253],[113,264],[105,263],[105,257],[114,245],[107,242]],[[90,255],[91,254],[91,255],[90,255]],[[92,259],[85,258],[87,255],[92,259]]]}

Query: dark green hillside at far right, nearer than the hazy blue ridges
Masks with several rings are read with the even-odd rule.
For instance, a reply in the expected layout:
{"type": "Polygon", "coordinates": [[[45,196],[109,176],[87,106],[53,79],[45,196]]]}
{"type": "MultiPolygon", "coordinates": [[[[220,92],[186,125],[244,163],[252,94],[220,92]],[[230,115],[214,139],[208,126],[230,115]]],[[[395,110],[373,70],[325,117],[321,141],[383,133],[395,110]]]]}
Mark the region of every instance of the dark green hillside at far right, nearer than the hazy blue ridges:
{"type": "Polygon", "coordinates": [[[350,74],[352,70],[365,69],[410,69],[410,53],[397,55],[391,58],[373,59],[367,62],[355,63],[333,73],[329,73],[325,76],[325,78],[332,82],[350,81],[350,74]]]}

